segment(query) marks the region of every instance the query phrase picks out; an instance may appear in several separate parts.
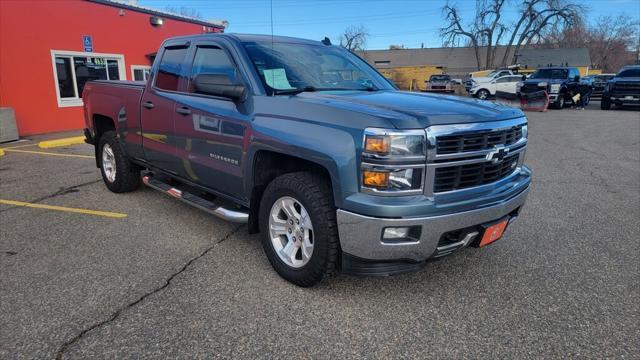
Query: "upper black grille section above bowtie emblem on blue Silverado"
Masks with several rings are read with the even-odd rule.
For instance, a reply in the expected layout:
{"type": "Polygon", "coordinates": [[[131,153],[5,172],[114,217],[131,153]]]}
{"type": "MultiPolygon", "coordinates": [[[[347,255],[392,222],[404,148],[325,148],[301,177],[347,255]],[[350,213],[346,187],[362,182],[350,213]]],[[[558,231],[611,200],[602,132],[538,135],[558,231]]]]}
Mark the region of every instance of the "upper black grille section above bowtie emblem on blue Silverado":
{"type": "Polygon", "coordinates": [[[438,154],[455,154],[493,149],[496,145],[511,145],[522,139],[522,125],[499,131],[482,131],[470,134],[439,136],[436,141],[438,154]]]}

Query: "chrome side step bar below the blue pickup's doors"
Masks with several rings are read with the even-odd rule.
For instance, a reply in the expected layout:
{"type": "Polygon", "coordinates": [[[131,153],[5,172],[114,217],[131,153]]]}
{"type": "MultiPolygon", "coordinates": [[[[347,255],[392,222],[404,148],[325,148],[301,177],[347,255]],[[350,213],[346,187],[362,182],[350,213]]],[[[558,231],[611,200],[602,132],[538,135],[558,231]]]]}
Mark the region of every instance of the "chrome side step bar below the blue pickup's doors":
{"type": "Polygon", "coordinates": [[[197,207],[200,210],[204,210],[209,214],[217,216],[221,219],[235,223],[247,223],[247,221],[249,220],[248,213],[223,208],[222,206],[219,206],[207,199],[203,199],[200,196],[177,189],[163,181],[160,181],[154,178],[153,175],[146,174],[142,176],[142,182],[152,189],[156,189],[171,197],[180,199],[191,206],[197,207]]]}

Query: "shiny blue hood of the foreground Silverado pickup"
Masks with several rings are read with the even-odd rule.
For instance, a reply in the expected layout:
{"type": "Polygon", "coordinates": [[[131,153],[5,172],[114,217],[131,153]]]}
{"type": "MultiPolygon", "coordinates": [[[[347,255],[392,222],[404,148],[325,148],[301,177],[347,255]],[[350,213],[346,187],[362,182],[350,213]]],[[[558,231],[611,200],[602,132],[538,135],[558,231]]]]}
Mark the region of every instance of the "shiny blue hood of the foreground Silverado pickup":
{"type": "Polygon", "coordinates": [[[301,102],[381,117],[398,129],[513,119],[522,111],[471,98],[404,91],[314,92],[292,97],[301,102]]]}

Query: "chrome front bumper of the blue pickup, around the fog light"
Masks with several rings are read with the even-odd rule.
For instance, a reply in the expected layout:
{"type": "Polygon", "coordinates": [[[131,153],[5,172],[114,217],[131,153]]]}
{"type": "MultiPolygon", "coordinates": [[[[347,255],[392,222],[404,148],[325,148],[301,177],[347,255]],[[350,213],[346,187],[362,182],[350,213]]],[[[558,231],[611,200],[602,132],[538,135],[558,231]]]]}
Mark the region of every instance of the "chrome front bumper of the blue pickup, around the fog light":
{"type": "MultiPolygon", "coordinates": [[[[342,251],[362,259],[424,261],[436,253],[442,234],[498,220],[522,207],[529,187],[497,205],[476,210],[421,218],[385,219],[337,211],[342,251]],[[382,242],[386,227],[421,226],[419,240],[382,242]]],[[[466,244],[465,244],[466,245],[466,244]]]]}

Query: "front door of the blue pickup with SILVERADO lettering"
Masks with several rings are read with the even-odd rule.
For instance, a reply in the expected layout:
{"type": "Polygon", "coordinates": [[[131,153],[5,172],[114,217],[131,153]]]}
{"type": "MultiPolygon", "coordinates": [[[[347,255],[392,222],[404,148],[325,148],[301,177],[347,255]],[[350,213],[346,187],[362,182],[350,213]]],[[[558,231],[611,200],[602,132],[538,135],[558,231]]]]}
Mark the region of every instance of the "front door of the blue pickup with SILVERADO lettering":
{"type": "Polygon", "coordinates": [[[200,40],[193,44],[185,91],[177,99],[175,129],[180,175],[244,199],[242,165],[250,134],[249,107],[229,98],[196,93],[193,86],[198,74],[225,74],[232,83],[246,84],[236,64],[221,42],[200,40]]]}

